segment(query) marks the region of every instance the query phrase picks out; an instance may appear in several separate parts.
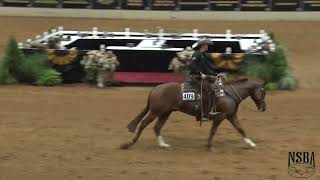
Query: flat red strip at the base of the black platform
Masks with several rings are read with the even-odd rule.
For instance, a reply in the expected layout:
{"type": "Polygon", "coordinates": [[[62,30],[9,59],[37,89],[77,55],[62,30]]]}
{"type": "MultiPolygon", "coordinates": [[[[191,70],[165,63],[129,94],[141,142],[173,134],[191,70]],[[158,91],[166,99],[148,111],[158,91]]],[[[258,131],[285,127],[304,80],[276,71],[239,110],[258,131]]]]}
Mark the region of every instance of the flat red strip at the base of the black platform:
{"type": "Polygon", "coordinates": [[[115,72],[113,80],[127,83],[168,83],[182,82],[174,73],[115,72]]]}

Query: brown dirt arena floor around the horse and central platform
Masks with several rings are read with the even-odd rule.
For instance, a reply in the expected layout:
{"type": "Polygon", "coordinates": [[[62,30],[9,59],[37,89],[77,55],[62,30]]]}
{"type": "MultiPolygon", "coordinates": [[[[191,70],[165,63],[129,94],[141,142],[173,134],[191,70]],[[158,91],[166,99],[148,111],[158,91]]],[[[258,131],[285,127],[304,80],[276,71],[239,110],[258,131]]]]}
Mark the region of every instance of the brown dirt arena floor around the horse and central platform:
{"type": "Polygon", "coordinates": [[[9,35],[19,41],[62,25],[70,30],[142,31],[161,26],[173,31],[258,32],[272,30],[288,46],[299,90],[267,95],[268,109],[258,113],[250,100],[239,117],[256,142],[248,149],[225,121],[206,150],[211,123],[202,127],[175,113],[163,129],[172,145],[156,145],[152,125],[130,150],[119,145],[132,134],[126,125],[143,107],[150,87],[96,89],[0,86],[0,180],[57,179],[295,179],[288,175],[289,151],[314,151],[320,179],[320,22],[176,22],[108,19],[0,17],[0,51],[9,35]]]}

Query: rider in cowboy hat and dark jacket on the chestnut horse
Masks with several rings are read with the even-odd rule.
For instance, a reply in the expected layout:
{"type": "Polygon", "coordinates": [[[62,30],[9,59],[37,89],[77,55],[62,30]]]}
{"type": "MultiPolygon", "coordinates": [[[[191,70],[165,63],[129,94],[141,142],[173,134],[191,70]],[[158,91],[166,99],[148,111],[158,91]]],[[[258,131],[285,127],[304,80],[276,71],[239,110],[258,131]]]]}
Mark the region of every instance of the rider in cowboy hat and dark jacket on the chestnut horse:
{"type": "MultiPolygon", "coordinates": [[[[211,54],[206,53],[209,49],[209,45],[213,45],[213,42],[204,39],[200,40],[192,45],[192,48],[195,50],[194,54],[192,55],[192,61],[190,64],[190,75],[191,81],[198,83],[199,78],[194,78],[201,76],[202,79],[206,78],[207,75],[216,76],[218,74],[217,67],[214,64],[211,54]]],[[[213,85],[209,85],[210,92],[214,94],[214,87],[213,85]]],[[[219,112],[214,111],[215,108],[211,108],[209,115],[216,115],[219,112]]],[[[199,119],[199,117],[197,117],[199,119]]]]}

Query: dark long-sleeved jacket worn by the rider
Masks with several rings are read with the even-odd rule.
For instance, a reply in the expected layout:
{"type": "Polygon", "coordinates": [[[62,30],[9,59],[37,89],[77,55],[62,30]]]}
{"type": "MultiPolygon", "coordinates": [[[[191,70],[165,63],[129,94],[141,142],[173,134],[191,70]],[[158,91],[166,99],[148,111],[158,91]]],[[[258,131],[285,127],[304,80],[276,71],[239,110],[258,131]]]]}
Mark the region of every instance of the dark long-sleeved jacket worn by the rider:
{"type": "Polygon", "coordinates": [[[210,53],[195,51],[190,64],[190,74],[217,75],[217,66],[214,64],[210,53]]]}

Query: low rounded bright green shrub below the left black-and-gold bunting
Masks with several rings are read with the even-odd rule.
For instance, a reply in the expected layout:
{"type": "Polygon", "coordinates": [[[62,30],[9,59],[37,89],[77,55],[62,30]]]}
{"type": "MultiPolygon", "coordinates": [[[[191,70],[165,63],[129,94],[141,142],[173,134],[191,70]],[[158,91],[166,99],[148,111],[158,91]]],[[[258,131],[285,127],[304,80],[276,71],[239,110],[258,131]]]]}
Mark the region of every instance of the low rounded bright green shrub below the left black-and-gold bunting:
{"type": "Polygon", "coordinates": [[[54,86],[62,83],[61,73],[54,69],[44,71],[36,81],[39,86],[54,86]]]}

